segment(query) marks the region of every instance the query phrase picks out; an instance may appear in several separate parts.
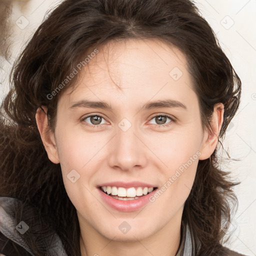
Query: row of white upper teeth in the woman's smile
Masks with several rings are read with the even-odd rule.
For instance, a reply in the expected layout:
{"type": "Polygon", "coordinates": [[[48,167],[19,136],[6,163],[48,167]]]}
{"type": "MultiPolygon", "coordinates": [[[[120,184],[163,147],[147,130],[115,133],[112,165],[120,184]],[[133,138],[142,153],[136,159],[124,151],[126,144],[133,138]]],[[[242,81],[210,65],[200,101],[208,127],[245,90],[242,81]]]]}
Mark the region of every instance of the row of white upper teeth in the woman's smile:
{"type": "Polygon", "coordinates": [[[126,189],[124,187],[117,188],[116,186],[102,186],[101,188],[104,192],[107,192],[108,194],[126,197],[135,197],[140,196],[142,194],[145,195],[153,191],[153,187],[129,187],[126,189]]]}

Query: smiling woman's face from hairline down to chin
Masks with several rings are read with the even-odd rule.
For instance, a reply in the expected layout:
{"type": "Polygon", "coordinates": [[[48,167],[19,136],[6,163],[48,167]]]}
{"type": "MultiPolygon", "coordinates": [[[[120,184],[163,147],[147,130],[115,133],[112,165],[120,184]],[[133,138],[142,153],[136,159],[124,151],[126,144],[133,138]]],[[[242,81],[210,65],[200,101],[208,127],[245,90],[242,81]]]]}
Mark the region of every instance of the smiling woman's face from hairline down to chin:
{"type": "Polygon", "coordinates": [[[152,39],[98,50],[58,101],[49,158],[81,228],[126,241],[178,228],[198,160],[214,149],[186,59],[152,39]]]}

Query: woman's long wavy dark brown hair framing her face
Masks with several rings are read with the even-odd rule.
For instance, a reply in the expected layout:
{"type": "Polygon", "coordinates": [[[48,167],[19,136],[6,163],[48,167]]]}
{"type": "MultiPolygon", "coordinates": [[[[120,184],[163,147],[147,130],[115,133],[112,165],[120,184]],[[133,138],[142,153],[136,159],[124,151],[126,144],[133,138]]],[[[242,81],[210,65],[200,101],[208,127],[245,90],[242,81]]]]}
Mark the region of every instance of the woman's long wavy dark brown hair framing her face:
{"type": "MultiPolygon", "coordinates": [[[[240,103],[241,81],[192,1],[65,0],[58,5],[14,64],[11,89],[1,105],[0,195],[33,205],[40,219],[59,235],[68,255],[80,255],[77,215],[66,194],[60,165],[48,159],[43,147],[36,109],[48,108],[54,131],[58,98],[78,76],[52,99],[47,95],[91,49],[112,39],[128,38],[159,38],[185,54],[204,128],[210,129],[214,104],[224,104],[219,138],[240,103]]],[[[216,149],[208,159],[199,160],[182,215],[182,226],[187,224],[191,231],[195,255],[218,255],[224,235],[221,224],[230,220],[230,203],[236,202],[233,185],[229,173],[218,166],[216,149]]],[[[42,236],[47,230],[29,229],[22,235],[34,255],[42,255],[37,240],[31,239],[32,232],[42,236]]]]}

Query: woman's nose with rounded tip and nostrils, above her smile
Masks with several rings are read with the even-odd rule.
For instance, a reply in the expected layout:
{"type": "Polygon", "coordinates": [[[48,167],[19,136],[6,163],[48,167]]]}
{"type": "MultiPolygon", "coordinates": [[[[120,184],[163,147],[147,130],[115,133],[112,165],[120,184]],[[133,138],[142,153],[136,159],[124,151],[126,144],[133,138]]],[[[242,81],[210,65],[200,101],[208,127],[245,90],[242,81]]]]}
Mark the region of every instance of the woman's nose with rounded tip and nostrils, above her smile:
{"type": "Polygon", "coordinates": [[[133,126],[126,131],[118,127],[108,146],[110,167],[130,171],[146,165],[148,149],[143,136],[133,126]]]}

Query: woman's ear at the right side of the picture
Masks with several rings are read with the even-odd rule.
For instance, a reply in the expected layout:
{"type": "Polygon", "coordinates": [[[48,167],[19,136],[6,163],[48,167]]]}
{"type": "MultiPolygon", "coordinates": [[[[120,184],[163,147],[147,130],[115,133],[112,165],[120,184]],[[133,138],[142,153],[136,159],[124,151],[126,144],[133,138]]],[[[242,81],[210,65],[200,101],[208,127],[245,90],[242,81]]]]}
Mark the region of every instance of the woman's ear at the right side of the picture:
{"type": "Polygon", "coordinates": [[[211,130],[204,131],[202,144],[201,144],[201,155],[199,160],[204,160],[210,157],[216,148],[218,142],[218,135],[220,128],[223,123],[224,105],[222,103],[217,103],[214,105],[212,119],[210,121],[211,130]]]}

